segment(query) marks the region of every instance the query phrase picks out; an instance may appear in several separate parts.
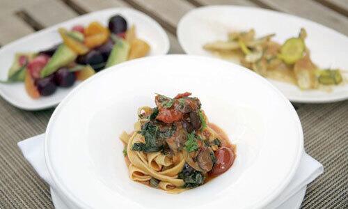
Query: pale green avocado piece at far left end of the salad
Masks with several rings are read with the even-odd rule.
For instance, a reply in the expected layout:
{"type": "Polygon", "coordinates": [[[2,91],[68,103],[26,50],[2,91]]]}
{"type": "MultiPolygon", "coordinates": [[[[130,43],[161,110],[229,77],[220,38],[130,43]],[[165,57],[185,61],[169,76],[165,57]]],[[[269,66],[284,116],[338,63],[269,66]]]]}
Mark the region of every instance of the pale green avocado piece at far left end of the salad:
{"type": "Polygon", "coordinates": [[[9,82],[23,82],[24,81],[26,65],[23,65],[23,66],[20,65],[19,58],[21,56],[26,56],[27,63],[29,63],[29,61],[31,61],[36,56],[36,53],[27,52],[27,53],[16,53],[15,54],[15,59],[13,60],[13,63],[10,67],[10,70],[8,70],[8,81],[9,82]]]}

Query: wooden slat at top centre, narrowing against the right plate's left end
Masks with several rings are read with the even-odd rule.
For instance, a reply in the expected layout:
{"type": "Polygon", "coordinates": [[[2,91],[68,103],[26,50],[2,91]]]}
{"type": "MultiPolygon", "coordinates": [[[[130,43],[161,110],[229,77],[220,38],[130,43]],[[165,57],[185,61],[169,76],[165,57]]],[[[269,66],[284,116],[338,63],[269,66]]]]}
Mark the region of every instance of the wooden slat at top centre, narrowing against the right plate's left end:
{"type": "Polygon", "coordinates": [[[191,3],[182,0],[127,0],[127,2],[145,13],[150,13],[173,34],[176,33],[176,26],[181,17],[195,8],[191,3]]]}

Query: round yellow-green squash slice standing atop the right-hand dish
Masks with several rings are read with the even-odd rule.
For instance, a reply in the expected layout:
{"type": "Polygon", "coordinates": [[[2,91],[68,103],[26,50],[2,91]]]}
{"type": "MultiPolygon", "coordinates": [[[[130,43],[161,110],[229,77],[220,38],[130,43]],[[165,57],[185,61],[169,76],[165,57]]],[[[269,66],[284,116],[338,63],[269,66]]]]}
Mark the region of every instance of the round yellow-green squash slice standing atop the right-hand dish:
{"type": "Polygon", "coordinates": [[[280,48],[278,58],[287,64],[293,64],[302,58],[305,49],[306,47],[302,38],[290,38],[280,48]]]}

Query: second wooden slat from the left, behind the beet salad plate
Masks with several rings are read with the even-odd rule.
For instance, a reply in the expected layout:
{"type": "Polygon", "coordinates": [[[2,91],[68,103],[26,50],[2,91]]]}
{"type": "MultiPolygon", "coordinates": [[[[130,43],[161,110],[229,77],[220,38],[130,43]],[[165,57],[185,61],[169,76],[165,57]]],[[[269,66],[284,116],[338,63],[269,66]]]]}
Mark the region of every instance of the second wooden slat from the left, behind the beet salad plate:
{"type": "Polygon", "coordinates": [[[65,5],[65,3],[56,0],[41,0],[27,6],[25,11],[44,27],[52,26],[77,16],[77,13],[65,5]]]}

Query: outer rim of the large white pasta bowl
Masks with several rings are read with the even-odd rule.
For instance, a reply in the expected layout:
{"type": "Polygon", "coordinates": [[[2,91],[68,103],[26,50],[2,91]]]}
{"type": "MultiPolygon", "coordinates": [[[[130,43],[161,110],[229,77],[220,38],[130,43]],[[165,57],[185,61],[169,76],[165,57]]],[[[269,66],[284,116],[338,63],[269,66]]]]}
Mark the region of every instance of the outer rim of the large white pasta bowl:
{"type": "MultiPolygon", "coordinates": [[[[54,121],[56,121],[56,118],[60,114],[61,110],[74,97],[74,94],[79,92],[80,88],[84,88],[84,86],[88,85],[94,79],[98,79],[98,77],[101,77],[102,75],[111,72],[111,70],[118,70],[120,68],[126,67],[127,65],[132,65],[133,63],[139,63],[139,62],[143,62],[143,61],[147,61],[147,60],[151,60],[151,59],[155,59],[155,60],[166,59],[167,57],[171,57],[172,59],[198,59],[198,60],[202,60],[202,61],[209,60],[209,61],[214,61],[214,62],[224,62],[224,63],[228,63],[229,65],[232,65],[235,68],[244,68],[240,65],[230,63],[228,61],[223,61],[221,59],[211,58],[211,57],[207,57],[207,56],[196,56],[196,55],[187,55],[187,54],[166,54],[166,55],[159,55],[159,56],[144,57],[141,59],[135,59],[132,61],[120,63],[118,65],[114,65],[113,67],[108,68],[107,70],[103,70],[102,72],[97,73],[97,75],[90,77],[85,82],[83,82],[82,84],[80,84],[79,86],[74,88],[72,91],[70,91],[70,93],[68,93],[67,96],[65,96],[65,98],[62,100],[62,102],[60,104],[58,104],[58,107],[56,107],[56,109],[54,110],[51,118],[49,119],[49,123],[47,124],[47,129],[45,132],[45,141],[44,141],[45,163],[47,165],[49,175],[51,176],[53,183],[56,186],[55,187],[56,191],[58,192],[58,194],[61,194],[61,196],[63,196],[64,199],[66,199],[67,201],[70,201],[70,203],[74,204],[75,206],[77,206],[79,208],[90,208],[90,206],[88,206],[83,200],[81,200],[77,196],[75,196],[73,194],[73,192],[70,191],[70,189],[65,187],[65,185],[63,185],[63,183],[61,183],[58,180],[58,173],[56,173],[56,171],[54,170],[54,168],[52,166],[52,162],[50,161],[50,157],[49,157],[50,156],[49,155],[50,132],[52,132],[51,130],[53,129],[54,121]]],[[[264,79],[264,77],[261,77],[260,75],[256,74],[255,72],[251,72],[250,70],[247,70],[246,68],[244,68],[243,70],[245,73],[248,73],[251,76],[258,77],[258,79],[260,79],[260,82],[263,82],[264,85],[269,86],[273,91],[275,91],[275,93],[277,93],[277,95],[280,97],[279,99],[283,100],[283,102],[285,102],[285,105],[287,105],[287,107],[289,108],[289,111],[292,114],[292,119],[294,119],[295,126],[299,132],[299,136],[297,137],[299,144],[298,144],[298,148],[297,148],[296,157],[294,157],[294,163],[292,165],[292,169],[289,173],[287,173],[287,177],[283,180],[283,183],[281,183],[280,186],[278,188],[274,189],[274,191],[271,192],[271,194],[269,196],[262,199],[260,202],[258,202],[258,205],[255,206],[255,208],[263,208],[264,206],[267,206],[267,204],[271,203],[271,201],[274,200],[276,198],[276,196],[278,196],[281,192],[283,192],[285,187],[287,187],[287,185],[289,185],[290,180],[292,180],[292,178],[294,177],[294,174],[295,174],[297,168],[299,167],[301,156],[303,154],[303,130],[302,130],[302,126],[301,126],[301,121],[299,120],[299,116],[297,115],[297,113],[296,113],[294,107],[292,106],[292,104],[290,103],[290,101],[287,100],[287,98],[285,98],[285,95],[283,95],[283,93],[281,93],[278,90],[278,88],[276,88],[270,82],[268,82],[267,79],[264,79]]]]}

